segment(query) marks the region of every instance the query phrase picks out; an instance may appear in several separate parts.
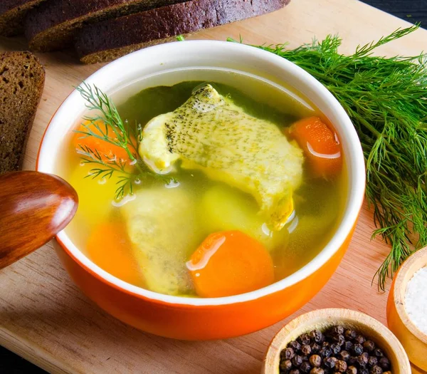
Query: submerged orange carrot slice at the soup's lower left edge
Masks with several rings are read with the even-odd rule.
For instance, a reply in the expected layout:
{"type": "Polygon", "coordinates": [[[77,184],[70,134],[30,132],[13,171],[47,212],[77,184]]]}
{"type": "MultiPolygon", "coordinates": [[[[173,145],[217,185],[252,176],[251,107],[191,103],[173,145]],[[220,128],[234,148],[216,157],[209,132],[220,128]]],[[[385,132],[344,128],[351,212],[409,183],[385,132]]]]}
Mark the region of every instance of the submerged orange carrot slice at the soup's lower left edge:
{"type": "Polygon", "coordinates": [[[102,223],[90,235],[86,251],[89,258],[107,273],[139,286],[143,281],[137,261],[132,258],[131,245],[123,224],[102,223]]]}

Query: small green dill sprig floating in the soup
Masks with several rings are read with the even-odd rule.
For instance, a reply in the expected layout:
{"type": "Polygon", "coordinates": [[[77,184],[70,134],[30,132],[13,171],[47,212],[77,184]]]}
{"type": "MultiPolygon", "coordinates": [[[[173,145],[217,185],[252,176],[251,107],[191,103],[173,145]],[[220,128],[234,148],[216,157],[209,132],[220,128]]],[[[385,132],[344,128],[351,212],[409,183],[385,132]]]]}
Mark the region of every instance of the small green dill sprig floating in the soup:
{"type": "Polygon", "coordinates": [[[83,130],[75,130],[75,133],[81,135],[79,139],[82,140],[82,144],[78,145],[77,152],[83,164],[93,165],[93,169],[86,177],[106,181],[117,174],[115,199],[133,194],[134,183],[147,178],[162,180],[165,183],[174,180],[173,177],[152,172],[139,160],[137,149],[139,142],[142,141],[141,125],[131,126],[127,120],[123,121],[115,104],[96,85],[92,87],[83,82],[76,90],[86,100],[86,108],[96,113],[93,116],[83,117],[85,121],[81,124],[83,130]],[[84,144],[85,137],[95,137],[102,142],[122,148],[127,153],[129,163],[115,155],[105,155],[97,149],[88,147],[84,144]],[[130,172],[127,165],[135,167],[136,172],[130,172]]]}

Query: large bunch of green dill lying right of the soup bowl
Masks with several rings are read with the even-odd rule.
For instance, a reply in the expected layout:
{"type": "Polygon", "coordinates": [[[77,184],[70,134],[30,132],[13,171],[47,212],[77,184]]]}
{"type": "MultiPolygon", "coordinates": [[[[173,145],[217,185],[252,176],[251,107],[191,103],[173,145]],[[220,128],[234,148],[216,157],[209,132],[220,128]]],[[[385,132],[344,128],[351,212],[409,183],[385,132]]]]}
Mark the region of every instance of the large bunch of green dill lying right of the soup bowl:
{"type": "Polygon", "coordinates": [[[398,29],[357,47],[351,56],[338,53],[338,36],[295,49],[258,46],[320,80],[352,119],[366,161],[366,196],[374,208],[372,237],[380,235],[391,245],[376,274],[383,290],[402,261],[427,244],[427,55],[373,53],[418,27],[398,29]]]}

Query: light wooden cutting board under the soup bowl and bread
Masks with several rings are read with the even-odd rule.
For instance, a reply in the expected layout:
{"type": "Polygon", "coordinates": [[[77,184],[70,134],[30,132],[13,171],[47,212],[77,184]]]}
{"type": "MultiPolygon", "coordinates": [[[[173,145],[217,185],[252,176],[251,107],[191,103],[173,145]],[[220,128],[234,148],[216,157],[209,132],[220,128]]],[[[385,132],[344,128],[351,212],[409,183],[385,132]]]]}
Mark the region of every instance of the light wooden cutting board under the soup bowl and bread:
{"type": "MultiPolygon", "coordinates": [[[[350,53],[408,23],[356,0],[292,0],[274,14],[250,19],[192,38],[298,46],[315,36],[339,33],[341,51],[350,53]]],[[[384,46],[381,53],[414,55],[427,47],[427,31],[418,30],[384,46]]],[[[0,38],[0,50],[25,49],[21,38],[0,38]]],[[[81,80],[102,65],[80,65],[70,52],[39,54],[46,66],[46,87],[26,152],[33,169],[38,144],[58,105],[81,80]]],[[[297,314],[315,308],[364,311],[386,323],[387,293],[372,277],[389,247],[371,241],[372,214],[365,206],[341,266],[329,283],[297,314]]],[[[389,286],[389,284],[388,284],[389,286]]],[[[284,301],[285,302],[285,301],[284,301]]],[[[70,281],[51,244],[0,271],[0,344],[51,373],[260,373],[268,343],[280,321],[258,333],[225,341],[187,342],[142,333],[97,308],[70,281]]]]}

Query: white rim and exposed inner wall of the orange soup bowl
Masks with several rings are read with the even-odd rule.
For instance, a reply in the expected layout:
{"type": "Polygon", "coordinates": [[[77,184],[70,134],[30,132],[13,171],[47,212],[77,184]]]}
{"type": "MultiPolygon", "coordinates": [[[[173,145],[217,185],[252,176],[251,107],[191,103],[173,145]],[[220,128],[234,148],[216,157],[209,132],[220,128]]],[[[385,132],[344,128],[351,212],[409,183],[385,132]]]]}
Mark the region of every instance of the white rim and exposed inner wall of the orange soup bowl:
{"type": "MultiPolygon", "coordinates": [[[[166,296],[127,284],[100,269],[81,252],[65,232],[58,234],[58,240],[80,266],[100,276],[107,283],[132,294],[147,298],[186,305],[221,305],[259,298],[305,279],[319,269],[339,249],[352,231],[364,198],[364,157],[357,133],[344,109],[333,95],[315,78],[273,53],[238,43],[220,41],[185,41],[146,48],[114,61],[90,76],[86,83],[97,85],[105,93],[114,95],[123,88],[150,77],[165,74],[176,69],[223,69],[252,74],[263,80],[299,91],[310,100],[334,125],[342,143],[346,163],[348,188],[344,214],[334,237],[315,259],[296,273],[263,289],[225,298],[184,298],[166,296]]],[[[77,91],[58,109],[48,125],[41,142],[36,169],[55,173],[61,140],[75,126],[85,112],[85,102],[77,91]]]]}

